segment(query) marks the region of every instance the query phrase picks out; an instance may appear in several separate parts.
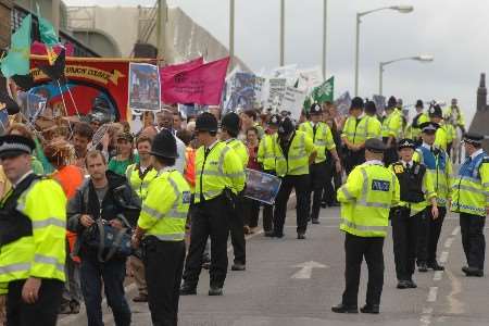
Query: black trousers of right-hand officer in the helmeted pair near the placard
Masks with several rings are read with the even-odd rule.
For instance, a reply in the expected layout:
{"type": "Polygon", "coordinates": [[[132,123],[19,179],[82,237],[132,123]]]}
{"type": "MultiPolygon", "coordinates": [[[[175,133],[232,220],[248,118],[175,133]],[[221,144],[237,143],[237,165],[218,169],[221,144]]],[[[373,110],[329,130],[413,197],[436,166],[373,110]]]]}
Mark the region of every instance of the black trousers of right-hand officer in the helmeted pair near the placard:
{"type": "MultiPolygon", "coordinates": [[[[247,263],[247,242],[244,239],[246,198],[241,195],[236,200],[236,210],[228,216],[229,230],[235,254],[235,264],[247,263]]],[[[211,247],[212,248],[212,247],[211,247]]]]}

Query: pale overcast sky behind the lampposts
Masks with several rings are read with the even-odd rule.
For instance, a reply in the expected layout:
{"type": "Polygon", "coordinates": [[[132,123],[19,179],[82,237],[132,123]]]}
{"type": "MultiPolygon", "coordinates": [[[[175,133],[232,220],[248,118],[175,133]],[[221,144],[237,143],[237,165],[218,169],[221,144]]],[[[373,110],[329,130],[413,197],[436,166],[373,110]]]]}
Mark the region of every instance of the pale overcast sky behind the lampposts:
{"type": "MultiPolygon", "coordinates": [[[[64,0],[68,5],[153,5],[154,0],[64,0]]],[[[224,45],[228,43],[228,0],[170,0],[224,45]]],[[[471,120],[479,75],[489,66],[487,0],[328,0],[327,75],[335,76],[335,96],[354,87],[355,12],[411,4],[401,14],[386,10],[363,17],[360,95],[378,92],[378,63],[431,54],[435,61],[403,61],[386,67],[384,95],[404,103],[417,98],[459,98],[471,120]]],[[[286,64],[322,63],[323,1],[286,0],[286,64]]],[[[253,71],[278,65],[279,0],[236,0],[236,54],[253,71]]]]}

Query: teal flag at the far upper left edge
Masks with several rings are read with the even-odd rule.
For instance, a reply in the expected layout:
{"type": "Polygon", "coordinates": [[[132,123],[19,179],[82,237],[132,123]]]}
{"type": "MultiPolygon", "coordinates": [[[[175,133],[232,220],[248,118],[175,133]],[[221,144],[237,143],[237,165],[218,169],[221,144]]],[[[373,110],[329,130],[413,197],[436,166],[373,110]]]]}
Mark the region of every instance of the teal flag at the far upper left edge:
{"type": "Polygon", "coordinates": [[[28,14],[21,23],[18,29],[12,34],[9,53],[1,61],[3,76],[29,74],[30,59],[30,26],[33,16],[28,14]]]}

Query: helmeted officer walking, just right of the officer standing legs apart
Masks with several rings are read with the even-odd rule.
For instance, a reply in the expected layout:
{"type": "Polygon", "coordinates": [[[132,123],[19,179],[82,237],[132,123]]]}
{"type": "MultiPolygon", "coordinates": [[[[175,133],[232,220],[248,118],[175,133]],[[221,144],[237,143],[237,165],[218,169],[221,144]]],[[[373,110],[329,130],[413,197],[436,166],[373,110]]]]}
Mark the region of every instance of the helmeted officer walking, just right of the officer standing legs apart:
{"type": "Polygon", "coordinates": [[[338,153],[336,152],[336,145],[333,140],[331,130],[327,124],[321,121],[323,116],[323,109],[321,105],[313,103],[309,110],[309,114],[310,121],[302,123],[299,126],[299,130],[305,133],[305,135],[312,138],[317,150],[316,159],[310,166],[311,187],[308,196],[308,208],[311,208],[311,192],[313,192],[314,195],[310,218],[312,224],[319,224],[321,200],[324,185],[327,181],[326,151],[331,153],[337,172],[341,171],[341,163],[339,161],[338,153]]]}

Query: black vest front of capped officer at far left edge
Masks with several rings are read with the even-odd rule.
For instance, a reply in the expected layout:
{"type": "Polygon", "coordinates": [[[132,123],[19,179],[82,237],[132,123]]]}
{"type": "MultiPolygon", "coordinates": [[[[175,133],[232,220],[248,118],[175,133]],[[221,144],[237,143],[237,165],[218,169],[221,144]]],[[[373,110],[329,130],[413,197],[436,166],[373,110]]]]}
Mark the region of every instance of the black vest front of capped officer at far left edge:
{"type": "Polygon", "coordinates": [[[18,198],[36,179],[40,179],[40,176],[34,173],[28,175],[3,202],[0,209],[0,247],[33,235],[33,222],[16,206],[18,198]]]}

